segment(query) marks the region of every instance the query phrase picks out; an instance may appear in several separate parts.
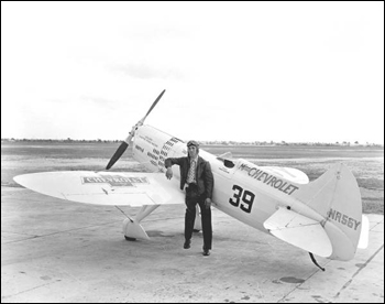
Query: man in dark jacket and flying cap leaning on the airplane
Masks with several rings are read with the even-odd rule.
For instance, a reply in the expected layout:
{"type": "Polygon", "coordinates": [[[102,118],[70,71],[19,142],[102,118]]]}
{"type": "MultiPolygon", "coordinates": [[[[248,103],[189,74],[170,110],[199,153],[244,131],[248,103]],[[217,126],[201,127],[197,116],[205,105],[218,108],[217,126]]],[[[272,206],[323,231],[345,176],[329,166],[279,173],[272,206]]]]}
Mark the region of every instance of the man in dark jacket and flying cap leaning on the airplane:
{"type": "Polygon", "coordinates": [[[199,143],[191,140],[187,143],[188,156],[169,158],[165,160],[166,177],[173,177],[172,165],[179,165],[180,189],[186,187],[186,216],[185,216],[185,243],[188,249],[191,245],[194,221],[196,217],[196,206],[199,204],[202,218],[204,230],[204,256],[210,256],[212,242],[211,227],[211,196],[213,187],[213,176],[210,163],[200,158],[199,143]]]}

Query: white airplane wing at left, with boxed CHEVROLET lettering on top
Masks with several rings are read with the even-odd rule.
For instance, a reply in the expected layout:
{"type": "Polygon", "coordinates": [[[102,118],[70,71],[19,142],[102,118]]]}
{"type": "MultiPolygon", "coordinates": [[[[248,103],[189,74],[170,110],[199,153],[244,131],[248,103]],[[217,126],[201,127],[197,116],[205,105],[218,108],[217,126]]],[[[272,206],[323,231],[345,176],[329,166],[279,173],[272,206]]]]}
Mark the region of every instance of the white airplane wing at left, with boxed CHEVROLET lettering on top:
{"type": "Polygon", "coordinates": [[[63,171],[24,174],[13,180],[32,191],[96,205],[184,204],[179,181],[164,173],[63,171]]]}

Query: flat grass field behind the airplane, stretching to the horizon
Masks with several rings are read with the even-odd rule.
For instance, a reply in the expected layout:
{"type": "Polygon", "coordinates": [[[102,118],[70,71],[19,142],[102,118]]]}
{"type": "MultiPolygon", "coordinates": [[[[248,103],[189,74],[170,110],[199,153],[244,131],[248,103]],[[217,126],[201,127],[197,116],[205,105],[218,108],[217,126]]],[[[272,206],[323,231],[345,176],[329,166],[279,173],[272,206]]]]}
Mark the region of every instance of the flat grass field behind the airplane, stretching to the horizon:
{"type": "MultiPolygon", "coordinates": [[[[33,172],[90,170],[106,167],[119,143],[1,143],[1,187],[18,187],[13,176],[33,172]]],[[[257,165],[296,167],[314,181],[331,165],[342,162],[358,180],[363,210],[384,214],[384,149],[375,146],[309,146],[309,145],[208,145],[206,151],[220,155],[231,152],[257,165]]],[[[130,149],[113,171],[144,171],[130,149]]]]}

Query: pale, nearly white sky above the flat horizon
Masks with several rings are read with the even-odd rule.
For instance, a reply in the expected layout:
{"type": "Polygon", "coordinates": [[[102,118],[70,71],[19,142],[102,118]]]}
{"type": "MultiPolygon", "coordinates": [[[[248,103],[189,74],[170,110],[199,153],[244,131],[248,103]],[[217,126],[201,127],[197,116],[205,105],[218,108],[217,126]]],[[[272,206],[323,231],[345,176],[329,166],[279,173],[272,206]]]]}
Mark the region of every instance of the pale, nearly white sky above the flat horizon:
{"type": "Polygon", "coordinates": [[[384,2],[1,2],[1,138],[384,143],[384,2]]]}

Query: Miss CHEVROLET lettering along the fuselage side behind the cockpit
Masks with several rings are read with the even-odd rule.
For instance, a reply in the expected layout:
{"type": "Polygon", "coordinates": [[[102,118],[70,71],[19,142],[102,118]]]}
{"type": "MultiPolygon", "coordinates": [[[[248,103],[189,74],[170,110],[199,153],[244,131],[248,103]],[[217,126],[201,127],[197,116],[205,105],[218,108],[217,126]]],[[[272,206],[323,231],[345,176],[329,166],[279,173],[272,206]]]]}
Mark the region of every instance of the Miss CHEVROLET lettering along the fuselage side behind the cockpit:
{"type": "Polygon", "coordinates": [[[262,182],[266,185],[270,185],[287,195],[292,195],[295,191],[298,189],[297,186],[285,182],[280,178],[277,178],[273,174],[266,173],[262,171],[261,169],[249,166],[248,164],[241,164],[240,166],[241,171],[248,172],[248,175],[258,182],[262,182]]]}

